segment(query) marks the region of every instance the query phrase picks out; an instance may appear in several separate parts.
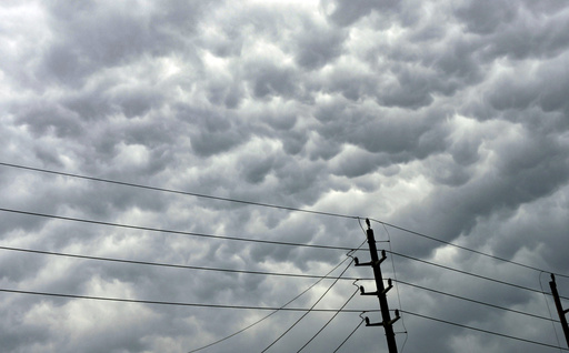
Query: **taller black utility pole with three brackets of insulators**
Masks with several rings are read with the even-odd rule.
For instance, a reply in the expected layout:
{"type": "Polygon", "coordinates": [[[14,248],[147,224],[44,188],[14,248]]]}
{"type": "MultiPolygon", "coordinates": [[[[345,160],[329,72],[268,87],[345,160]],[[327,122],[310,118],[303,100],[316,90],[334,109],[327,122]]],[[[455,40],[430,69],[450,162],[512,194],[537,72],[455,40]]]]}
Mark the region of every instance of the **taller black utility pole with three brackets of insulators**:
{"type": "Polygon", "coordinates": [[[387,337],[387,346],[389,349],[389,353],[397,353],[397,343],[396,343],[396,334],[393,333],[393,323],[399,320],[399,311],[396,310],[396,317],[391,320],[391,315],[389,314],[389,305],[387,303],[387,292],[393,286],[391,284],[391,280],[388,280],[388,288],[383,286],[383,278],[381,275],[380,264],[386,260],[386,251],[381,251],[381,259],[378,258],[378,249],[376,246],[376,238],[373,236],[373,230],[370,226],[369,220],[366,219],[366,224],[368,225],[368,230],[366,234],[368,236],[369,252],[371,255],[371,261],[366,263],[360,263],[358,258],[353,259],[357,266],[366,266],[371,265],[373,269],[373,275],[376,278],[376,288],[375,292],[366,292],[363,286],[360,285],[361,295],[377,295],[379,299],[379,307],[381,309],[381,319],[382,322],[379,323],[370,323],[369,319],[366,317],[366,326],[383,326],[386,330],[387,337]]]}

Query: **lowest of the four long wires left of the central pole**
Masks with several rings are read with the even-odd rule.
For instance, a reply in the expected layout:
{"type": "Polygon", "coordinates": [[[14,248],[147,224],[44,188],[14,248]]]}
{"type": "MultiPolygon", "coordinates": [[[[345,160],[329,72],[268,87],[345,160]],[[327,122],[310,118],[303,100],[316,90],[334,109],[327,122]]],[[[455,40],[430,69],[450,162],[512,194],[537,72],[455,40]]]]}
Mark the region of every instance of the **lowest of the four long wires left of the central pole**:
{"type": "MultiPolygon", "coordinates": [[[[50,293],[50,292],[34,292],[34,291],[21,291],[21,290],[9,290],[0,289],[0,292],[16,293],[16,294],[30,294],[41,296],[54,296],[54,297],[67,297],[67,299],[83,299],[83,300],[96,300],[106,302],[121,302],[121,303],[137,303],[137,304],[156,304],[156,305],[176,305],[176,306],[194,306],[194,307],[213,307],[213,309],[238,309],[238,310],[262,310],[262,311],[296,311],[296,312],[337,312],[337,309],[302,309],[302,307],[276,307],[276,306],[252,306],[252,305],[226,305],[226,304],[203,304],[203,303],[182,303],[182,302],[166,302],[166,301],[146,301],[134,299],[120,299],[120,297],[108,297],[108,296],[91,296],[91,295],[76,295],[76,294],[63,294],[63,293],[50,293]]],[[[343,309],[342,313],[360,313],[363,310],[356,309],[343,309]]],[[[376,311],[376,310],[372,310],[376,311]]]]}

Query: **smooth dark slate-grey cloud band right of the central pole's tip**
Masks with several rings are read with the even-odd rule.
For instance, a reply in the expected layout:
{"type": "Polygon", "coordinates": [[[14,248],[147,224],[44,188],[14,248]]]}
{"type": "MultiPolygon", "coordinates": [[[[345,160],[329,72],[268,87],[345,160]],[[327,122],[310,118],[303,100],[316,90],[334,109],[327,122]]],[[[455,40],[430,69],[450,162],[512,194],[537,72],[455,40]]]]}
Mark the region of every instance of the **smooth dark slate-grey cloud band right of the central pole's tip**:
{"type": "Polygon", "coordinates": [[[493,212],[516,210],[522,204],[552,194],[567,183],[568,162],[565,158],[555,157],[562,153],[557,143],[527,133],[523,139],[512,141],[513,144],[498,148],[496,151],[501,151],[499,160],[480,176],[470,180],[459,190],[437,189],[401,215],[418,214],[411,210],[419,208],[432,210],[422,212],[425,218],[415,219],[412,224],[430,224],[432,228],[425,228],[428,233],[452,241],[461,234],[469,234],[480,219],[493,212]],[[550,161],[555,162],[549,164],[550,161]],[[449,219],[449,214],[453,221],[443,221],[449,219]]]}

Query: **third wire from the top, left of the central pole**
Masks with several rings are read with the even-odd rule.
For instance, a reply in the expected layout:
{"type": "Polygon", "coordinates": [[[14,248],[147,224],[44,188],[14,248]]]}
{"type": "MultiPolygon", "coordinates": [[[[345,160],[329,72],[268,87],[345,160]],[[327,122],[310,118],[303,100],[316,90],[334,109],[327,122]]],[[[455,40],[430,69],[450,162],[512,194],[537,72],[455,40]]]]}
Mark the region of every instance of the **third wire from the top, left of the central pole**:
{"type": "Polygon", "coordinates": [[[82,260],[96,260],[96,261],[129,263],[129,264],[137,264],[137,265],[163,266],[163,268],[199,270],[199,271],[216,271],[216,272],[273,275],[273,276],[286,276],[286,278],[321,279],[321,280],[336,280],[336,279],[351,280],[351,281],[372,280],[372,279],[358,279],[358,278],[336,278],[336,276],[328,276],[328,275],[302,274],[302,273],[283,273],[283,272],[269,272],[269,271],[248,271],[248,270],[232,270],[232,269],[219,269],[219,268],[207,268],[207,266],[192,266],[192,265],[181,265],[181,264],[171,264],[171,263],[123,260],[123,259],[114,259],[114,258],[89,256],[89,255],[79,255],[79,254],[70,254],[70,253],[62,253],[62,252],[30,250],[30,249],[10,248],[10,246],[0,246],[0,250],[18,251],[18,252],[53,255],[53,256],[74,258],[74,259],[82,259],[82,260]]]}

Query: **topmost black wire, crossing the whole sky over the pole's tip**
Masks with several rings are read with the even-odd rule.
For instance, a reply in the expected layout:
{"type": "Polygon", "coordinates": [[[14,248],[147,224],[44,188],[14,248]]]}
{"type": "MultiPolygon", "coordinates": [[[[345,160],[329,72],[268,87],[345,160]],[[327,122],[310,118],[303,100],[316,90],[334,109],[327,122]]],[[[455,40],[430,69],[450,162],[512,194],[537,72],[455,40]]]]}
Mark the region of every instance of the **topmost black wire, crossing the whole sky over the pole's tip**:
{"type": "MultiPolygon", "coordinates": [[[[349,215],[349,214],[341,214],[341,213],[333,213],[333,212],[323,212],[323,211],[317,211],[317,210],[305,210],[305,209],[298,209],[298,208],[278,205],[278,204],[253,202],[253,201],[244,201],[244,200],[238,200],[238,199],[231,199],[231,198],[213,196],[213,195],[208,195],[208,194],[202,194],[202,193],[187,192],[187,191],[164,189],[164,188],[157,188],[157,186],[150,186],[150,185],[143,185],[143,184],[137,184],[137,183],[130,183],[130,182],[122,182],[122,181],[103,179],[103,178],[87,176],[87,175],[74,174],[74,173],[66,173],[66,172],[59,172],[59,171],[54,171],[54,170],[48,170],[48,169],[41,169],[41,168],[32,168],[32,167],[14,164],[14,163],[0,162],[0,165],[10,167],[10,168],[17,168],[17,169],[21,169],[21,170],[28,170],[28,171],[34,171],[34,172],[42,172],[42,173],[69,176],[69,178],[77,178],[77,179],[83,179],[83,180],[90,180],[90,181],[97,181],[97,182],[111,183],[111,184],[123,185],[123,186],[131,186],[131,188],[139,188],[139,189],[146,189],[146,190],[153,190],[153,191],[160,191],[160,192],[174,193],[174,194],[190,195],[190,196],[197,196],[197,198],[203,198],[203,199],[211,199],[211,200],[219,200],[219,201],[226,201],[226,202],[234,202],[234,203],[249,204],[249,205],[256,205],[256,206],[271,208],[271,209],[277,209],[277,210],[303,212],[303,213],[328,215],[328,216],[336,216],[336,218],[345,218],[345,219],[360,219],[360,216],[357,216],[357,215],[349,215]]],[[[377,220],[377,219],[370,219],[370,220],[373,221],[373,222],[377,222],[377,223],[380,223],[380,224],[383,224],[383,225],[387,225],[387,226],[391,226],[393,229],[397,229],[397,230],[400,230],[400,231],[413,234],[413,235],[422,236],[422,238],[426,238],[426,239],[429,239],[429,240],[432,240],[432,241],[436,241],[436,242],[439,242],[439,243],[442,243],[442,244],[447,244],[447,245],[451,245],[451,246],[455,246],[455,248],[458,248],[458,249],[470,251],[470,252],[479,254],[479,255],[483,255],[483,256],[491,258],[491,259],[495,259],[495,260],[499,260],[499,261],[502,261],[502,262],[516,264],[516,265],[519,265],[519,266],[522,266],[522,268],[526,268],[526,269],[531,269],[531,270],[535,270],[535,271],[551,272],[551,271],[545,271],[542,269],[538,269],[536,266],[527,265],[527,264],[523,264],[523,263],[520,263],[520,262],[517,262],[517,261],[511,261],[511,260],[507,260],[507,259],[503,259],[503,258],[500,258],[500,256],[488,254],[488,253],[485,253],[485,252],[479,251],[479,250],[475,250],[475,249],[467,248],[467,246],[463,246],[463,245],[458,245],[458,244],[455,244],[455,243],[451,243],[451,242],[448,242],[448,241],[445,241],[445,240],[437,239],[435,236],[430,236],[430,235],[427,235],[427,234],[423,234],[423,233],[420,233],[420,232],[417,232],[417,231],[412,231],[410,229],[407,229],[407,228],[403,228],[403,226],[400,226],[400,225],[397,225],[397,224],[388,223],[388,222],[385,222],[385,221],[381,221],[381,220],[377,220]]],[[[348,250],[348,249],[342,249],[342,250],[348,250]]],[[[562,278],[569,279],[569,275],[566,275],[566,274],[562,274],[562,273],[555,273],[555,274],[558,275],[558,276],[562,276],[562,278]]]]}

